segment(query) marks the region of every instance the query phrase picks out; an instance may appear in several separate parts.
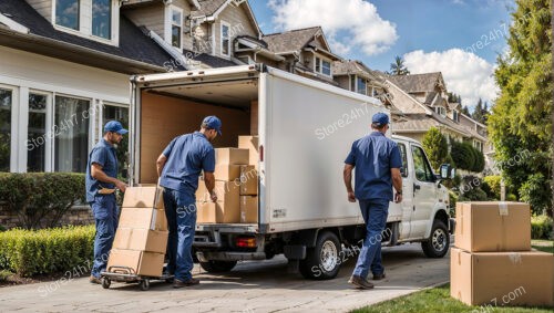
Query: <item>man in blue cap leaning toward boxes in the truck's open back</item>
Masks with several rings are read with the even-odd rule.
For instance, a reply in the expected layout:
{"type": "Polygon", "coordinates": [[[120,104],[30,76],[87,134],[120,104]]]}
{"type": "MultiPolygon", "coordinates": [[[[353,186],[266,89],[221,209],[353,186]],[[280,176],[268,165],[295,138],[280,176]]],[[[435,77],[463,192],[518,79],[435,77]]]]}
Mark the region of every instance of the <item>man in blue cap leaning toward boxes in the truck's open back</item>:
{"type": "Polygon", "coordinates": [[[193,279],[192,247],[196,227],[196,189],[204,170],[206,188],[217,201],[215,187],[215,150],[212,142],[222,135],[222,121],[207,116],[201,131],[174,138],[156,161],[160,186],[165,188],[164,205],[170,229],[167,273],[174,274],[173,288],[198,284],[193,279]]]}

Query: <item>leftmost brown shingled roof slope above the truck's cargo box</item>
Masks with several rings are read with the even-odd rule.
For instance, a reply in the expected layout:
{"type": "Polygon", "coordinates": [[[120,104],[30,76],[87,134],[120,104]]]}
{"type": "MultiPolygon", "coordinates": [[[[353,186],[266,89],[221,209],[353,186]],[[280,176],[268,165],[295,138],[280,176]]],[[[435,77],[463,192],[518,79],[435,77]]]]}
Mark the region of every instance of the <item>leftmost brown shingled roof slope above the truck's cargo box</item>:
{"type": "MultiPolygon", "coordinates": [[[[308,46],[317,34],[322,33],[320,27],[315,27],[266,34],[263,36],[263,40],[267,42],[268,49],[276,53],[299,52],[308,46]]],[[[316,44],[314,46],[318,48],[316,44]]]]}

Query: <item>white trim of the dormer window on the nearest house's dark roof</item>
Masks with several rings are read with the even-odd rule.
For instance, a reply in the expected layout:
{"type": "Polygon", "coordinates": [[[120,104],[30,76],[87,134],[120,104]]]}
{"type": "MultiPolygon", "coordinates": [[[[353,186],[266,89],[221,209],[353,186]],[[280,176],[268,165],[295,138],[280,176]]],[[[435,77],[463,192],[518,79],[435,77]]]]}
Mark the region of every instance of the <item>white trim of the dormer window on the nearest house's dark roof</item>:
{"type": "Polygon", "coordinates": [[[79,30],[65,28],[55,23],[55,4],[57,0],[52,0],[52,27],[55,30],[71,33],[81,38],[94,40],[110,45],[120,44],[120,6],[116,0],[112,2],[112,21],[111,21],[111,39],[104,39],[92,34],[92,0],[79,0],[79,30]],[[86,8],[90,8],[88,10],[86,8]],[[85,10],[86,9],[86,10],[85,10]]]}

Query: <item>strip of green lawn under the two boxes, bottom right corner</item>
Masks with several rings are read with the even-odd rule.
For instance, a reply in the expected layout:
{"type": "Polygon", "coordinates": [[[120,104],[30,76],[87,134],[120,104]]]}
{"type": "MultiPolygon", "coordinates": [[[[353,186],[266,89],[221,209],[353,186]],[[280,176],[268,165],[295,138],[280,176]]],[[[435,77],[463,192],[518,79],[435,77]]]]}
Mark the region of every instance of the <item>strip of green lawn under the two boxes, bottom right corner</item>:
{"type": "Polygon", "coordinates": [[[441,285],[419,291],[391,301],[381,302],[372,306],[355,310],[356,313],[431,313],[431,312],[522,312],[522,313],[552,313],[552,309],[536,307],[491,307],[469,306],[450,298],[450,285],[441,285]]]}

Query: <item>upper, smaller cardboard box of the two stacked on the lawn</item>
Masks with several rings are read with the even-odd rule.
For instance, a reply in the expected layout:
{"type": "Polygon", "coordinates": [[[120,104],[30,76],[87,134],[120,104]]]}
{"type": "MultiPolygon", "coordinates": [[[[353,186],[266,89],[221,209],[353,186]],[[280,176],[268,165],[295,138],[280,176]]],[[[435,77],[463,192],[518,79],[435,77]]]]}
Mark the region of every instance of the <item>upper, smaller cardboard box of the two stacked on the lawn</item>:
{"type": "Polygon", "coordinates": [[[531,210],[521,202],[458,202],[455,247],[471,252],[531,250],[531,210]]]}

